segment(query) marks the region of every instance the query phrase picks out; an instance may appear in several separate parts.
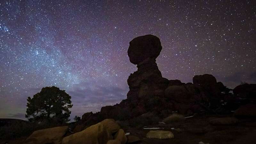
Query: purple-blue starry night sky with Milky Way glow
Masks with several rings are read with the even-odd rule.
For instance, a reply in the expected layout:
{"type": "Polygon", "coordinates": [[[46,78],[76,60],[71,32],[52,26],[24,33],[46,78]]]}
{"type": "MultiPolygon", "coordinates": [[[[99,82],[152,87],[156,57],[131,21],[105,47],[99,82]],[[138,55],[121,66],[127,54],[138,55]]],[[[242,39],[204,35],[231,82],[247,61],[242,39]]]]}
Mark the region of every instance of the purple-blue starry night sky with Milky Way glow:
{"type": "Polygon", "coordinates": [[[27,97],[55,85],[71,119],[126,98],[137,70],[129,42],[160,38],[163,77],[212,74],[229,88],[256,83],[256,2],[0,1],[0,118],[25,119],[27,97]]]}

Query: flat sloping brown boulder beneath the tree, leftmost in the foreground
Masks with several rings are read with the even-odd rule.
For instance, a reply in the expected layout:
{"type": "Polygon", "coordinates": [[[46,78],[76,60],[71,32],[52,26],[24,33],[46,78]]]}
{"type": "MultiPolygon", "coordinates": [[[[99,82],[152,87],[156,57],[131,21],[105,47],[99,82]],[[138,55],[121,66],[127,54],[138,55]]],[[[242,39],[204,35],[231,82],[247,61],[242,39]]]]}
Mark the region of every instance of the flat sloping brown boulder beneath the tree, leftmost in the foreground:
{"type": "Polygon", "coordinates": [[[49,129],[43,129],[33,132],[24,144],[61,144],[62,138],[68,130],[68,126],[60,126],[49,129]]]}

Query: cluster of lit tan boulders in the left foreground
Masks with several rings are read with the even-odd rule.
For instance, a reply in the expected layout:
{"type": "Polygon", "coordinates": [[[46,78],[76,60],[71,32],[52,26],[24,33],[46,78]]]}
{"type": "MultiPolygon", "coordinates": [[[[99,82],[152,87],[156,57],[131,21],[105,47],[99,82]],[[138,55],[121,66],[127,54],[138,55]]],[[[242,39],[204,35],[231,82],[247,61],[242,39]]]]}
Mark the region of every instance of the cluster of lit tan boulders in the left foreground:
{"type": "Polygon", "coordinates": [[[126,136],[124,130],[113,119],[105,119],[71,135],[67,132],[68,126],[38,130],[33,132],[24,144],[126,144],[140,140],[136,136],[126,136]]]}

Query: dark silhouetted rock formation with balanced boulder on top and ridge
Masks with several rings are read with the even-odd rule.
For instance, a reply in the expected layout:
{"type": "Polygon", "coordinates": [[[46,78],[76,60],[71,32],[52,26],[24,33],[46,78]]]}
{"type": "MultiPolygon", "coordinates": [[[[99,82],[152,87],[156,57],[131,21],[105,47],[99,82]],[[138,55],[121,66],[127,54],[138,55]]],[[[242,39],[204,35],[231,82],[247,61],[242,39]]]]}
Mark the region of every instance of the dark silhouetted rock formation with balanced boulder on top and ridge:
{"type": "MultiPolygon", "coordinates": [[[[193,77],[193,83],[182,83],[180,80],[168,80],[162,77],[156,58],[162,50],[158,37],[145,35],[134,38],[128,48],[131,63],[138,70],[127,80],[129,92],[127,99],[114,106],[102,107],[98,113],[85,113],[82,122],[92,124],[105,118],[127,120],[153,112],[159,117],[167,117],[173,111],[191,115],[198,112],[227,113],[237,109],[230,89],[210,74],[193,77]]],[[[244,85],[248,88],[247,85],[244,85]]],[[[235,95],[246,95],[244,86],[234,89],[235,95]]],[[[250,85],[248,89],[255,91],[250,85]]],[[[250,95],[255,95],[250,93],[250,95]]]]}

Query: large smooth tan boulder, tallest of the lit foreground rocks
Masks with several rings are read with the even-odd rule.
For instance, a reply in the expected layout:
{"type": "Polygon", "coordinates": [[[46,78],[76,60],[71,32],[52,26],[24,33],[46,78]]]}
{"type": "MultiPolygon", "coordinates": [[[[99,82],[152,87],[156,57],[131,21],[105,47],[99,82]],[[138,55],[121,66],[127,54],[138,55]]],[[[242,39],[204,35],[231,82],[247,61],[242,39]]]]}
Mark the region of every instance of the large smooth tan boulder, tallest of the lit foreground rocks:
{"type": "Polygon", "coordinates": [[[62,144],[106,144],[111,139],[112,136],[107,127],[102,123],[98,123],[81,132],[63,138],[62,144]]]}

